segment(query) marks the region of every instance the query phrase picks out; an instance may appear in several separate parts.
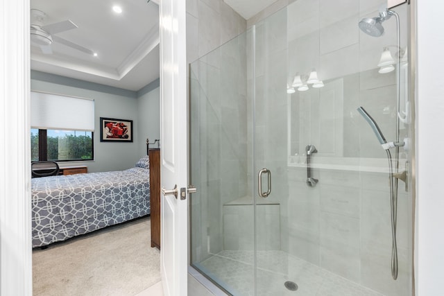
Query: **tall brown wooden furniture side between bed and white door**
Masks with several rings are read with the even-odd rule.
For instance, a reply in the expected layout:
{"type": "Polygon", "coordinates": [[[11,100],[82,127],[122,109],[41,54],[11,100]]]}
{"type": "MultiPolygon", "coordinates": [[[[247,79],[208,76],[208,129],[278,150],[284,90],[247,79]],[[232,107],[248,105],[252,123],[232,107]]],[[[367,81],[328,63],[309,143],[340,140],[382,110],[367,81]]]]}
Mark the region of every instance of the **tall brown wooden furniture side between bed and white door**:
{"type": "Polygon", "coordinates": [[[150,159],[151,247],[160,250],[160,149],[148,150],[150,159]]]}

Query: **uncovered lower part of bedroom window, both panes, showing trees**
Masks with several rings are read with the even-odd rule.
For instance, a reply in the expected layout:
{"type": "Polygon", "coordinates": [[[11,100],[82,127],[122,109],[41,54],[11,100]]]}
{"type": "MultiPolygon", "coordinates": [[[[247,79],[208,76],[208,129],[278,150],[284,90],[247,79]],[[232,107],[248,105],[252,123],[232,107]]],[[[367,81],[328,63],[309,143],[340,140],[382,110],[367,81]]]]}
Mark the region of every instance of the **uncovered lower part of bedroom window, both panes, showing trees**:
{"type": "Polygon", "coordinates": [[[93,132],[31,129],[31,160],[92,160],[93,132]]]}

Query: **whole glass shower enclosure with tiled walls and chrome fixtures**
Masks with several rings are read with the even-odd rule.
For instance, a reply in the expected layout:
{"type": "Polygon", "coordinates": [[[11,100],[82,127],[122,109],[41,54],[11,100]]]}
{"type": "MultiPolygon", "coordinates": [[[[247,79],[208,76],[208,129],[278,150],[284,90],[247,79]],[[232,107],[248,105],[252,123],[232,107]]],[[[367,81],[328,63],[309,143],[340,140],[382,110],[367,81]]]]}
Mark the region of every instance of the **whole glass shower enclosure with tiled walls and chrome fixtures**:
{"type": "Polygon", "coordinates": [[[382,2],[294,1],[190,65],[191,265],[225,293],[412,295],[409,8],[382,2]]]}

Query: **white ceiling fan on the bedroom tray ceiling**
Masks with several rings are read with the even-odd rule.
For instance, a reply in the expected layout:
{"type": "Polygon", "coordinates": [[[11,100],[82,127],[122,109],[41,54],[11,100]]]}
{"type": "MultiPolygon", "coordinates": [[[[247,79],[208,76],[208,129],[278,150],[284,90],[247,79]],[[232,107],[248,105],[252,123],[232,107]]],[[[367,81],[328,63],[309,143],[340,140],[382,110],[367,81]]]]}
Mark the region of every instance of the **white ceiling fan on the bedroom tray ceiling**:
{"type": "Polygon", "coordinates": [[[42,53],[51,54],[51,44],[58,42],[89,55],[94,55],[94,51],[80,46],[74,42],[58,37],[56,34],[78,28],[71,20],[60,21],[58,23],[44,26],[46,13],[41,10],[31,9],[31,43],[40,46],[42,53]]]}

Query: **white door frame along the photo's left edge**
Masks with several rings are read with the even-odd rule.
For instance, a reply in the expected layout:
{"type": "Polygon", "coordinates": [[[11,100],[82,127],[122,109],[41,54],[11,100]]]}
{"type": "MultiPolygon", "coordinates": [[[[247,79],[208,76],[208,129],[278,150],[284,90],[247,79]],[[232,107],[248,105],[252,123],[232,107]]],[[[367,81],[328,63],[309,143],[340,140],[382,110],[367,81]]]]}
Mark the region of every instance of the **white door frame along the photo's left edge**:
{"type": "Polygon", "coordinates": [[[0,295],[32,295],[30,0],[0,2],[0,295]]]}

